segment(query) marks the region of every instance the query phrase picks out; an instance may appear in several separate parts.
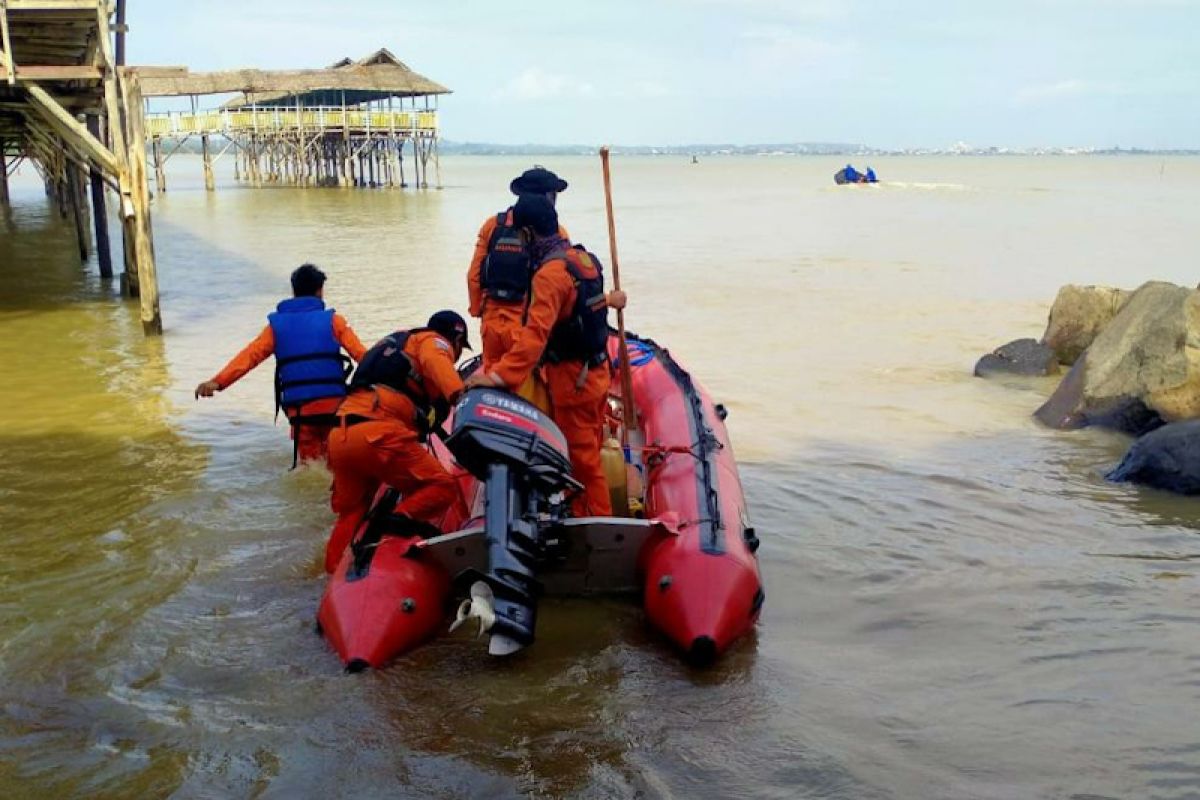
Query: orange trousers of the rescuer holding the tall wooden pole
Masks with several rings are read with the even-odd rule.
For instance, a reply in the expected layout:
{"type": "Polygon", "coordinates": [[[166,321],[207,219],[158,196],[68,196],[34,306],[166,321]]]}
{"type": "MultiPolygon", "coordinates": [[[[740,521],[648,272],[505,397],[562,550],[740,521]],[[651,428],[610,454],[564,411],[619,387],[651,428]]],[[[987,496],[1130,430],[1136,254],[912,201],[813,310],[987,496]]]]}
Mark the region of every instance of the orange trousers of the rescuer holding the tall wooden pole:
{"type": "Polygon", "coordinates": [[[551,417],[566,437],[571,471],[583,485],[583,492],[571,501],[576,517],[612,515],[608,481],[600,461],[604,444],[605,405],[608,403],[608,365],[588,371],[580,385],[583,365],[577,361],[546,365],[551,417]]]}

